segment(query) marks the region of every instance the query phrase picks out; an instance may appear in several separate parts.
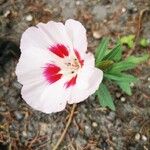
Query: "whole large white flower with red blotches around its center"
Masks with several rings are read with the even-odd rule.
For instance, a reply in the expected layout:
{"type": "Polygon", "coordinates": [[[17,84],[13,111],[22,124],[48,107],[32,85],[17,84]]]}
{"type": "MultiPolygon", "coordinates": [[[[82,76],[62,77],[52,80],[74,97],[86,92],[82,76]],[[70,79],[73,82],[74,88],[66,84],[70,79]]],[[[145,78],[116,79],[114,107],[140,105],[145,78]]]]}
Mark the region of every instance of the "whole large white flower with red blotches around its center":
{"type": "Polygon", "coordinates": [[[95,68],[93,54],[86,52],[86,30],[78,21],[30,27],[22,35],[20,49],[16,74],[23,85],[21,94],[36,110],[62,111],[67,103],[88,98],[102,81],[103,72],[95,68]]]}

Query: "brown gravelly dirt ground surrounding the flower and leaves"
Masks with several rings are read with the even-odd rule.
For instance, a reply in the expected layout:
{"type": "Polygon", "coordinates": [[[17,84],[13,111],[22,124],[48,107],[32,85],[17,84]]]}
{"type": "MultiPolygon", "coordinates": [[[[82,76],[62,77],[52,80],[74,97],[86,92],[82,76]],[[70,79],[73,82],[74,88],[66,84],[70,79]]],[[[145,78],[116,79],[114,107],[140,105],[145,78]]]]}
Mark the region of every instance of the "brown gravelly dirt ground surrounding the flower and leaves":
{"type": "MultiPolygon", "coordinates": [[[[124,47],[124,56],[150,52],[138,44],[141,37],[150,39],[149,0],[0,0],[0,150],[51,150],[59,139],[71,107],[51,115],[30,108],[21,98],[15,67],[25,29],[68,18],[87,29],[89,51],[103,36],[113,42],[134,34],[137,44],[124,47]]],[[[131,73],[140,79],[132,96],[109,85],[116,112],[101,108],[92,96],[78,104],[60,150],[150,149],[150,62],[131,73]]]]}

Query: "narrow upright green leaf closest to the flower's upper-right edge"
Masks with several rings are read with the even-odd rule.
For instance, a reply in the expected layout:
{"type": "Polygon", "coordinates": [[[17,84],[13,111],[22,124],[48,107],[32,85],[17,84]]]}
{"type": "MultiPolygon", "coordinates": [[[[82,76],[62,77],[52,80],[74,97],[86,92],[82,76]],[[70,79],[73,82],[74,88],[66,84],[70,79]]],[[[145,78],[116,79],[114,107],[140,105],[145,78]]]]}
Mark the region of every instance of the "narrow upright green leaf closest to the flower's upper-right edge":
{"type": "Polygon", "coordinates": [[[108,48],[109,38],[103,38],[95,52],[96,64],[100,62],[105,56],[106,49],[108,48]]]}

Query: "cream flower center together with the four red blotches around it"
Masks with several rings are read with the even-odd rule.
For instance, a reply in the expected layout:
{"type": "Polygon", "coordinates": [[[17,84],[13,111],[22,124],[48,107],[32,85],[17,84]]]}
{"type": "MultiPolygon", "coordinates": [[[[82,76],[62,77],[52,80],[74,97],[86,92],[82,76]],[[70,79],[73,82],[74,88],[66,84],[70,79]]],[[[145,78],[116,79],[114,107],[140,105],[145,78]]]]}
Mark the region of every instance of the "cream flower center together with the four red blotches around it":
{"type": "Polygon", "coordinates": [[[76,84],[78,71],[82,68],[84,63],[79,52],[77,50],[70,51],[62,44],[51,46],[48,50],[55,54],[58,58],[56,58],[55,61],[46,64],[44,67],[43,74],[46,80],[50,84],[53,84],[62,77],[65,77],[65,87],[69,88],[74,86],[76,84]]]}

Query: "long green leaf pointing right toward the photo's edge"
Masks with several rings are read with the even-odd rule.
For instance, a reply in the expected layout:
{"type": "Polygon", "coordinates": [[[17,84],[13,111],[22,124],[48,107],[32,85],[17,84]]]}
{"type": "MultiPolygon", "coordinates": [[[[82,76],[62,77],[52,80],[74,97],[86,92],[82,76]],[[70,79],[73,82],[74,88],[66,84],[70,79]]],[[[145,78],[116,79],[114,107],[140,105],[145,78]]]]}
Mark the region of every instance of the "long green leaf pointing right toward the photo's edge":
{"type": "Polygon", "coordinates": [[[133,69],[138,64],[146,61],[148,58],[149,58],[148,54],[145,54],[141,57],[130,56],[126,60],[123,60],[123,61],[118,62],[118,63],[114,63],[111,66],[111,69],[109,70],[109,72],[115,73],[115,72],[121,72],[121,71],[129,70],[129,69],[133,69]]]}

